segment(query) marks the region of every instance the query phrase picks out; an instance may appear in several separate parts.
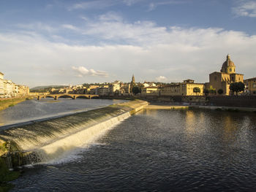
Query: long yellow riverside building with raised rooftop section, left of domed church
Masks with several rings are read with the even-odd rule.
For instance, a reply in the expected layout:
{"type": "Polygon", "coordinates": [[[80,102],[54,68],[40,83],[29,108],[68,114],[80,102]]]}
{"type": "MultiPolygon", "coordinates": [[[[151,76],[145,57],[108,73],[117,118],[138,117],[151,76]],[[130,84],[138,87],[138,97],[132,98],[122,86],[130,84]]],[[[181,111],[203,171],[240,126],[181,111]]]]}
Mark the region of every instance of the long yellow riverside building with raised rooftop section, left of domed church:
{"type": "Polygon", "coordinates": [[[203,83],[195,83],[194,80],[184,80],[183,82],[164,85],[160,88],[161,96],[203,96],[203,83]],[[194,92],[194,88],[200,88],[199,93],[194,92]]]}

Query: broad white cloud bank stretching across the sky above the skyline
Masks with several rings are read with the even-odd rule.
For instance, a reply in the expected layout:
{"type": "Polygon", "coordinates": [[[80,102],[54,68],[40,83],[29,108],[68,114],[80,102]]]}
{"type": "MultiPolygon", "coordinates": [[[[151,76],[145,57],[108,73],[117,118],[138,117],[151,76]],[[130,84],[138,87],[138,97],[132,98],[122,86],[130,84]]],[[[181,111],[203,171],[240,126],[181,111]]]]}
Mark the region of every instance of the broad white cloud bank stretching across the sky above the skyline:
{"type": "MultiPolygon", "coordinates": [[[[97,39],[99,43],[64,43],[64,37],[57,36],[61,34],[52,42],[38,31],[0,33],[1,72],[26,85],[128,82],[132,74],[141,81],[162,76],[166,82],[207,82],[208,74],[219,71],[230,53],[238,73],[255,77],[256,36],[241,31],[165,28],[152,21],[99,18],[87,21],[83,28],[74,27],[78,30],[72,32],[79,40],[97,39]],[[75,77],[74,72],[83,78],[75,77]]],[[[59,26],[56,31],[61,28],[64,30],[59,26]]]]}

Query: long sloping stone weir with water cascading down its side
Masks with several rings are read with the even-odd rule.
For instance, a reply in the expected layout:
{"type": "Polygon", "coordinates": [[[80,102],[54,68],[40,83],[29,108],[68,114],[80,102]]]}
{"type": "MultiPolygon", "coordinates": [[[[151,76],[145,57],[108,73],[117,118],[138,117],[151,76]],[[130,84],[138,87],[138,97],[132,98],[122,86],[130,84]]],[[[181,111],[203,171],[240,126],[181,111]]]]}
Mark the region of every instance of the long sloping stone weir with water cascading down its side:
{"type": "Polygon", "coordinates": [[[10,169],[54,161],[88,145],[103,131],[147,105],[146,101],[129,101],[2,130],[0,157],[4,158],[10,169]]]}

